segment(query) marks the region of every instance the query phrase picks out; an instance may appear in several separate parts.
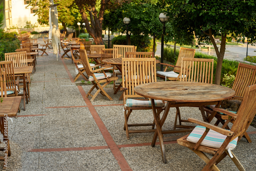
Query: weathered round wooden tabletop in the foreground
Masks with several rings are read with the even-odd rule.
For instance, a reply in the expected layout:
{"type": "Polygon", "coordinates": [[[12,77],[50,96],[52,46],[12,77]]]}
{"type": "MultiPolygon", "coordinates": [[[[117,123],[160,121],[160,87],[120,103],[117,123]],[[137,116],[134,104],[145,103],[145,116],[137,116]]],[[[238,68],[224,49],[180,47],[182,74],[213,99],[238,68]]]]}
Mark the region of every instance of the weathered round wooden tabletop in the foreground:
{"type": "Polygon", "coordinates": [[[213,102],[229,99],[235,91],[224,86],[185,81],[161,81],[136,86],[143,97],[173,102],[213,102]]]}

